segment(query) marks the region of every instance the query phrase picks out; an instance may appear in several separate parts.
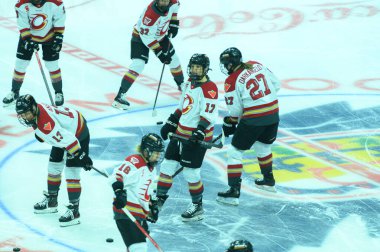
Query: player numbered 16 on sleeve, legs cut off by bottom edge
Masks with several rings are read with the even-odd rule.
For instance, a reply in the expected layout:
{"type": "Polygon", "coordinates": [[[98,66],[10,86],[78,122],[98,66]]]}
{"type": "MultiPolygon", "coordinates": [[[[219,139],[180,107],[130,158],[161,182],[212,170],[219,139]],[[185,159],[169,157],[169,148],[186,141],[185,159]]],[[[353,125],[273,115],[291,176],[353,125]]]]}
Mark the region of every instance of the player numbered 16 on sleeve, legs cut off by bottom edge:
{"type": "Polygon", "coordinates": [[[155,166],[163,159],[165,145],[160,136],[149,133],[141,139],[139,154],[125,158],[112,175],[114,219],[129,252],[147,251],[146,237],[124,211],[129,211],[148,232],[148,223],[158,219],[157,201],[152,182],[156,177],[155,166]]]}

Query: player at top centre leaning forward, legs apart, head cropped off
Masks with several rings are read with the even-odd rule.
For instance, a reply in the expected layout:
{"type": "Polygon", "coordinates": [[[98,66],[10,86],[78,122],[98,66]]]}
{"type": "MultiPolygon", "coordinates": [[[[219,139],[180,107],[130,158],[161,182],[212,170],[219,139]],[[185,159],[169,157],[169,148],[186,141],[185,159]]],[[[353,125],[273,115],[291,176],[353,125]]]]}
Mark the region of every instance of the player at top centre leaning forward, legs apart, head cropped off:
{"type": "Polygon", "coordinates": [[[174,50],[171,38],[177,36],[178,0],[154,0],[146,7],[134,26],[131,39],[131,59],[127,72],[121,80],[121,86],[112,106],[127,110],[130,106],[126,94],[138,76],[143,72],[149,60],[149,52],[163,64],[168,64],[178,89],[184,81],[181,63],[174,50]]]}

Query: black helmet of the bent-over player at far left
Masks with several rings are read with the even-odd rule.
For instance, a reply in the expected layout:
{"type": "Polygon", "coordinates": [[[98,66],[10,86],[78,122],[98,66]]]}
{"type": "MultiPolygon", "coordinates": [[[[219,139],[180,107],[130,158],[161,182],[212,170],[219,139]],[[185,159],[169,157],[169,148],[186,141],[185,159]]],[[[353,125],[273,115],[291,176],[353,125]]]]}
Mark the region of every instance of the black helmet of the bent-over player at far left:
{"type": "Polygon", "coordinates": [[[20,123],[26,127],[35,125],[35,117],[37,116],[37,102],[33,96],[27,94],[20,96],[16,101],[16,113],[20,123]],[[31,112],[34,116],[33,120],[27,120],[22,115],[31,112]]]}

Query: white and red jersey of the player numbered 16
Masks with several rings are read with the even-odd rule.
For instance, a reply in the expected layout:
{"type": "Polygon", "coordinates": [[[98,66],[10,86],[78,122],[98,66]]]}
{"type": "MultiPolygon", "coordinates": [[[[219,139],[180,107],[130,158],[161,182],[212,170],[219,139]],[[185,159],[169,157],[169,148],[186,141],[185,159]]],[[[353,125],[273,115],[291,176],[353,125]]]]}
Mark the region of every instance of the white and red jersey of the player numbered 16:
{"type": "MultiPolygon", "coordinates": [[[[150,195],[153,194],[151,186],[155,177],[154,167],[148,167],[141,155],[135,154],[125,158],[124,162],[116,168],[111,183],[123,182],[127,192],[127,205],[125,206],[133,216],[145,219],[149,214],[150,195]]],[[[115,218],[125,217],[121,209],[113,207],[115,218]]]]}

